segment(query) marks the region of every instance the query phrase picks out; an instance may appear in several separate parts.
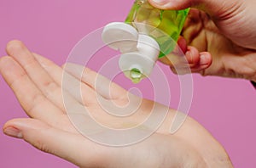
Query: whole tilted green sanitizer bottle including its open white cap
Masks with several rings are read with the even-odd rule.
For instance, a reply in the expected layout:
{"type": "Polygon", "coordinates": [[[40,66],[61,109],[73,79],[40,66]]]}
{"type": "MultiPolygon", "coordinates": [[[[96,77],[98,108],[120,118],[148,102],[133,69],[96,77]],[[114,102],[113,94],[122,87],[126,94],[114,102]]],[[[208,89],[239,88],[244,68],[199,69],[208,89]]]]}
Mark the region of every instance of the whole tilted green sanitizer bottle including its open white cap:
{"type": "Polygon", "coordinates": [[[119,50],[119,68],[134,83],[150,75],[158,58],[172,53],[177,45],[189,8],[162,10],[148,0],[136,0],[125,23],[104,27],[102,41],[119,50]]]}

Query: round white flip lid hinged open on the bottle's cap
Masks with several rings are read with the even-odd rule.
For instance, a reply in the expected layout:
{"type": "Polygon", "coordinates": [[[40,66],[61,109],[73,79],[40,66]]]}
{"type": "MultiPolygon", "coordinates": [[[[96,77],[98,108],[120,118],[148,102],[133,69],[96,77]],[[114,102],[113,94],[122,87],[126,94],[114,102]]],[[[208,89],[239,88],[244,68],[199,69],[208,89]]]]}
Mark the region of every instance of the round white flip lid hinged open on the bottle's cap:
{"type": "Polygon", "coordinates": [[[131,25],[113,22],[104,27],[102,41],[121,53],[137,50],[138,32],[131,25]]]}

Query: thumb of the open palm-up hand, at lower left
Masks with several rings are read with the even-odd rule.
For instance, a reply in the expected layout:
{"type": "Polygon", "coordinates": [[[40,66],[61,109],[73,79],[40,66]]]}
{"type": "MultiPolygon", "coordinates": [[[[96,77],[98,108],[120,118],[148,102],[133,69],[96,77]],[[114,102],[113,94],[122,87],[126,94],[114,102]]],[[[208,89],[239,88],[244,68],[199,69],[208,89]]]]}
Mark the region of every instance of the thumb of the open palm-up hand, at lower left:
{"type": "Polygon", "coordinates": [[[102,164],[106,157],[100,145],[78,133],[63,132],[40,120],[9,120],[3,132],[11,137],[23,138],[35,148],[82,167],[98,167],[97,164],[102,164]]]}

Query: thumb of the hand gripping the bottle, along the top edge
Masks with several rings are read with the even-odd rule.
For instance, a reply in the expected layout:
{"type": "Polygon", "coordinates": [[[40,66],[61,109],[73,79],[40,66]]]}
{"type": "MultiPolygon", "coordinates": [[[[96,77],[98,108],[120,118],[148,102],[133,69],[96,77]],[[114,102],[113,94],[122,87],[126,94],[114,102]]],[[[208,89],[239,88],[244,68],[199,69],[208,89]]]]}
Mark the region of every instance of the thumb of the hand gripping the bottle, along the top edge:
{"type": "Polygon", "coordinates": [[[213,18],[221,18],[230,14],[240,5],[239,1],[223,0],[148,0],[155,8],[180,10],[198,8],[210,14],[213,18]]]}

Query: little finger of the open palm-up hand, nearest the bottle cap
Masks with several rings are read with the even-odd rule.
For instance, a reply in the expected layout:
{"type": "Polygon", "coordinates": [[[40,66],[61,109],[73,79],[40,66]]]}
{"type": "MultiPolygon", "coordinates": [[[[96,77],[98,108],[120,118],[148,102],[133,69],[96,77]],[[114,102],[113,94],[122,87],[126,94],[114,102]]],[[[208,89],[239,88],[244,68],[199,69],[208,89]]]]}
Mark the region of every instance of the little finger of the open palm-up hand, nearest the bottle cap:
{"type": "Polygon", "coordinates": [[[68,73],[78,79],[81,79],[84,83],[102,95],[103,98],[121,99],[126,98],[127,96],[127,91],[124,88],[89,68],[84,68],[79,64],[72,63],[67,63],[64,67],[68,73]],[[83,74],[81,74],[81,72],[83,72],[83,74]]]}

